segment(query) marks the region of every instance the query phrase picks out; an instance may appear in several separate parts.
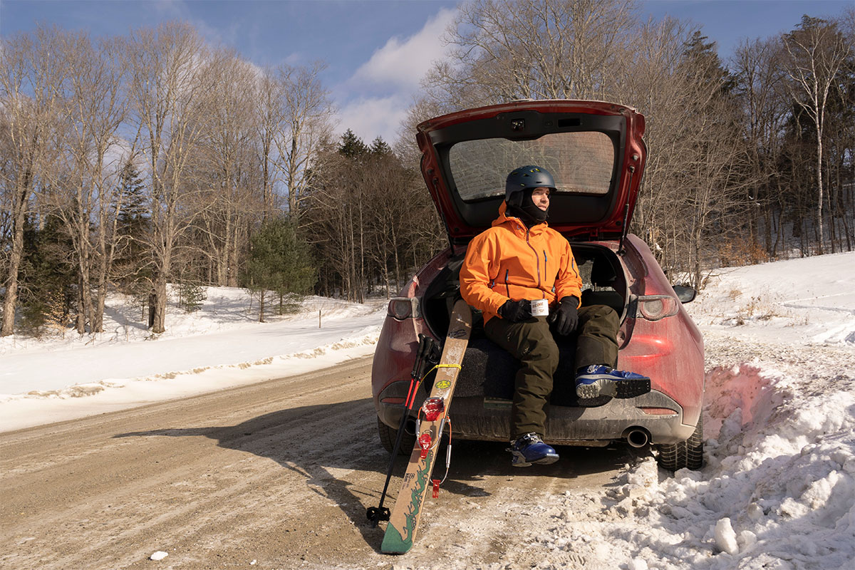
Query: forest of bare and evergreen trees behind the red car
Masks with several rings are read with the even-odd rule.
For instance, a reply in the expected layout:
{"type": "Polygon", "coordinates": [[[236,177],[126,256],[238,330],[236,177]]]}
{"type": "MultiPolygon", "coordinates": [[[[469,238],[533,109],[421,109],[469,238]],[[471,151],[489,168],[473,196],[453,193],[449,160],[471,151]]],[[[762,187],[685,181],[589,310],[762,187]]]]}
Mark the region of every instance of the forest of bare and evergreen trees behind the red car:
{"type": "Polygon", "coordinates": [[[163,332],[167,284],[394,294],[448,245],[414,127],[521,98],[646,116],[630,231],[675,283],[855,245],[855,9],[727,61],[634,0],[475,0],[446,39],[392,148],[333,134],[322,63],[257,68],[186,24],[2,38],[0,335],[101,332],[109,291],[163,332]]]}

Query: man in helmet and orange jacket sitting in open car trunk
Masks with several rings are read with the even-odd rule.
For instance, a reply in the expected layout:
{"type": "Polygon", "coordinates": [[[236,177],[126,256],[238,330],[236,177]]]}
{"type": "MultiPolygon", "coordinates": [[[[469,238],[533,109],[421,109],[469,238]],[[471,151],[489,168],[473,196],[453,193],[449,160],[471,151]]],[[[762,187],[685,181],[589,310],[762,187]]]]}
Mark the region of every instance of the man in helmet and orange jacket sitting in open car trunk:
{"type": "Polygon", "coordinates": [[[546,224],[551,173],[536,166],[508,174],[504,203],[492,227],[470,243],[460,269],[460,292],[466,303],[484,314],[484,332],[492,342],[517,358],[511,408],[512,464],[557,461],[543,443],[545,405],[558,367],[558,347],[551,328],[560,335],[577,332],[576,395],[593,398],[635,397],[650,391],[650,379],[615,370],[617,329],[614,309],[580,307],[581,278],[570,244],[546,224]],[[532,311],[532,301],[545,299],[549,316],[532,311]]]}

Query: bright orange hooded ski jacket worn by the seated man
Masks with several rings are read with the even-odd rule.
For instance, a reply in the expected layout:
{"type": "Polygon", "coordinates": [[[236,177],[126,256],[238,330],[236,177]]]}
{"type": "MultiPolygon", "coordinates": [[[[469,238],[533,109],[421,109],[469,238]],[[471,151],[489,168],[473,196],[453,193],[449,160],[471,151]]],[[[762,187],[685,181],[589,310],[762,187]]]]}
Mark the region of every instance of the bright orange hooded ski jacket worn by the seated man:
{"type": "Polygon", "coordinates": [[[545,223],[529,229],[506,209],[503,202],[492,227],[469,242],[460,268],[463,300],[481,309],[486,322],[508,299],[548,299],[550,309],[563,297],[581,299],[579,267],[567,239],[545,223]]]}

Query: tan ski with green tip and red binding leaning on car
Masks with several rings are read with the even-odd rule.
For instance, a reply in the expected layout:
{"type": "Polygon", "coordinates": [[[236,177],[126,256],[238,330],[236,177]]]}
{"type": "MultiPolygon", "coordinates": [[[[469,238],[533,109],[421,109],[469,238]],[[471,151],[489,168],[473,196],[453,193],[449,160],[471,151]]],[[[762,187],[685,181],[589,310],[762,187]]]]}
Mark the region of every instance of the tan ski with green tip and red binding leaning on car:
{"type": "Polygon", "coordinates": [[[421,421],[417,424],[419,427],[416,430],[416,445],[410,454],[404,482],[389,516],[383,544],[380,545],[380,550],[386,554],[404,554],[413,546],[425,494],[431,485],[431,473],[436,462],[439,440],[445,428],[446,414],[451,406],[451,395],[457,384],[457,373],[460,372],[460,363],[463,362],[463,354],[469,344],[470,332],[471,309],[463,299],[458,299],[451,311],[451,323],[445,337],[442,357],[436,365],[433,389],[419,411],[421,421]]]}

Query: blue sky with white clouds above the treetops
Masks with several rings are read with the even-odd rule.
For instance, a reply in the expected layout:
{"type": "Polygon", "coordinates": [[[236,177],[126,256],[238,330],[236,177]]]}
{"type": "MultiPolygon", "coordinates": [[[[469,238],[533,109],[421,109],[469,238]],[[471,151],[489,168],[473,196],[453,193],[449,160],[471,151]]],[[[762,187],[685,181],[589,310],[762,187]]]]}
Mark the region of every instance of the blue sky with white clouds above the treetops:
{"type": "MultiPolygon", "coordinates": [[[[654,19],[702,26],[727,58],[741,38],[792,29],[801,15],[840,15],[851,0],[648,0],[654,19]]],[[[120,35],[159,22],[190,22],[209,42],[257,65],[327,62],[322,77],[339,108],[339,131],[393,143],[422,73],[442,53],[447,0],[0,0],[0,35],[38,23],[120,35]]]]}

